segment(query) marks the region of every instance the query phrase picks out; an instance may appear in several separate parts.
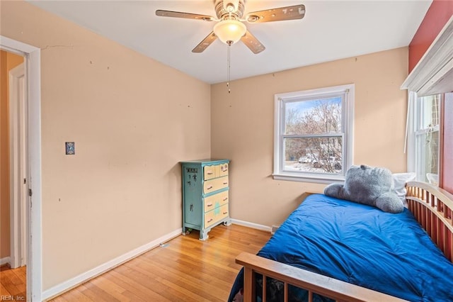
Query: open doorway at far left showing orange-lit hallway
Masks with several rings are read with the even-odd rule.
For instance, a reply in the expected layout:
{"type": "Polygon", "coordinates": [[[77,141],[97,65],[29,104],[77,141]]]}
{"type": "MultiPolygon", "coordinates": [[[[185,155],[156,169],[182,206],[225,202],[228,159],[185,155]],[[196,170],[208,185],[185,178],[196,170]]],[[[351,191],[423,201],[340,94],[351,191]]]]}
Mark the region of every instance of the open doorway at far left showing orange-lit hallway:
{"type": "MultiPolygon", "coordinates": [[[[0,50],[1,55],[1,259],[2,274],[16,276],[16,284],[2,286],[16,300],[26,298],[26,255],[28,237],[26,160],[25,58],[0,50]],[[8,223],[9,225],[5,225],[8,223]],[[6,226],[6,228],[5,228],[6,226]],[[8,248],[9,247],[9,248],[8,248]],[[8,269],[6,269],[8,268],[8,269]],[[21,268],[21,269],[19,269],[21,268]]],[[[12,278],[11,278],[12,279],[12,278]]],[[[6,296],[8,296],[6,293],[6,296]]],[[[2,293],[2,296],[5,296],[2,293]]]]}

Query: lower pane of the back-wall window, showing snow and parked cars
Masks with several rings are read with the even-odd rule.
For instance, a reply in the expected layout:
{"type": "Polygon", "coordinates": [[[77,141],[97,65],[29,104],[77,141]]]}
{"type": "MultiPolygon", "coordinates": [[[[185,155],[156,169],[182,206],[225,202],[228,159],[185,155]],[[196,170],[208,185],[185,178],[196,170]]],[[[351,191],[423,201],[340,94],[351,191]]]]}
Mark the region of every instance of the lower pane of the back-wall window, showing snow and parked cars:
{"type": "Polygon", "coordinates": [[[284,170],[340,174],[343,167],[341,136],[322,138],[285,138],[284,170]]]}

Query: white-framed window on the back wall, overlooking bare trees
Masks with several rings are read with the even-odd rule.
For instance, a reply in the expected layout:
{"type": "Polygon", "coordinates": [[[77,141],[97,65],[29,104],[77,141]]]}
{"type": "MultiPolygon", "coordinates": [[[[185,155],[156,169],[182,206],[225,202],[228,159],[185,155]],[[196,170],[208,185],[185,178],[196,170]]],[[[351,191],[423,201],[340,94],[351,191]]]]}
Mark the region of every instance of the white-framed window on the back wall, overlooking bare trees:
{"type": "Polygon", "coordinates": [[[352,164],[354,85],[275,94],[274,178],[328,183],[352,164]]]}

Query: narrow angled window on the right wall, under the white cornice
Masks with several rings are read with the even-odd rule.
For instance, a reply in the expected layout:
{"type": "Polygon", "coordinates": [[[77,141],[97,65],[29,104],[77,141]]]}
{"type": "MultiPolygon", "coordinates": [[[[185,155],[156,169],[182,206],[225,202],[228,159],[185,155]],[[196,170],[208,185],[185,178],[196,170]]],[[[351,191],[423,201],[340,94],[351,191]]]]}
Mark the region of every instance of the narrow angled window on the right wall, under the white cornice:
{"type": "Polygon", "coordinates": [[[442,94],[414,97],[413,157],[418,181],[437,186],[439,172],[439,121],[442,94]]]}

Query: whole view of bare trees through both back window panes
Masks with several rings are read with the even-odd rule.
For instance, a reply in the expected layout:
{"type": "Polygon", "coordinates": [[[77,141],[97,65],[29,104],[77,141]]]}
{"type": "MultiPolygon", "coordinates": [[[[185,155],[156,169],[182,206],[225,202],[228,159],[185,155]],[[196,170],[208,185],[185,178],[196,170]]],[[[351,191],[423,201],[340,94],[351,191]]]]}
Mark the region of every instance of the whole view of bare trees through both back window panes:
{"type": "Polygon", "coordinates": [[[285,104],[285,169],[340,173],[341,97],[285,104]]]}

